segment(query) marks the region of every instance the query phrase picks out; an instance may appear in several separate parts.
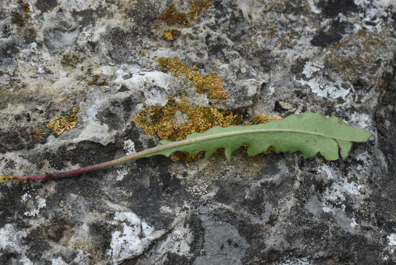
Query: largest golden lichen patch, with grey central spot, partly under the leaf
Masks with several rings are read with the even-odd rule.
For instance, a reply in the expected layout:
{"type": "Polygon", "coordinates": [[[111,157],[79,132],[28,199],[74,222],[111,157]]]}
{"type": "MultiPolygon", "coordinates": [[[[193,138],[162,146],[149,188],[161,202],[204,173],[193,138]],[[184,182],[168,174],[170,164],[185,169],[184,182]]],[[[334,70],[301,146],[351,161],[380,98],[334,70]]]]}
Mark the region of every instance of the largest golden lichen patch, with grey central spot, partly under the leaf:
{"type": "MultiPolygon", "coordinates": [[[[213,106],[192,107],[183,97],[177,102],[173,96],[169,96],[168,103],[164,107],[154,106],[143,109],[137,113],[133,121],[150,137],[156,133],[161,140],[179,141],[192,132],[204,132],[215,126],[227,127],[240,124],[242,116],[213,106]]],[[[171,156],[171,159],[182,160],[188,166],[189,161],[198,159],[202,154],[188,156],[186,152],[177,152],[171,156]]]]}

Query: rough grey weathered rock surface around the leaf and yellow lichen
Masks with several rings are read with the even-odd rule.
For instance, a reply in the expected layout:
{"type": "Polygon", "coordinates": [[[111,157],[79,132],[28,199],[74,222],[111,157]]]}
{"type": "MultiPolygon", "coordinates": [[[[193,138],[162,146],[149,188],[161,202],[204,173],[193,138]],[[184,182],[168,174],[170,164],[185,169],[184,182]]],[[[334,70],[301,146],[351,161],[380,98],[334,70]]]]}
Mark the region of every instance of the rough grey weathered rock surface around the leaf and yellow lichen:
{"type": "Polygon", "coordinates": [[[0,173],[66,171],[152,147],[131,119],[181,90],[194,106],[246,109],[246,119],[335,115],[372,132],[369,142],[345,161],[239,150],[231,165],[220,154],[188,168],[155,156],[1,183],[1,264],[396,263],[396,4],[211,3],[165,40],[177,26],[157,15],[191,2],[2,0],[0,173]],[[162,56],[217,72],[229,97],[195,92],[161,71],[162,56]],[[46,127],[74,107],[75,128],[46,127]]]}

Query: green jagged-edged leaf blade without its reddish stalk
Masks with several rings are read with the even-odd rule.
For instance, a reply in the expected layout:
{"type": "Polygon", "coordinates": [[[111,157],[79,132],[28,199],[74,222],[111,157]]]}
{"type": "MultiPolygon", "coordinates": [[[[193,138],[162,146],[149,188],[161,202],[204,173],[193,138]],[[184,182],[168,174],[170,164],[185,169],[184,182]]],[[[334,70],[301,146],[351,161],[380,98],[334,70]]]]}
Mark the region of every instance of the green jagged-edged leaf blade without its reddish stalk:
{"type": "Polygon", "coordinates": [[[190,156],[204,151],[206,158],[224,148],[230,162],[231,154],[248,144],[247,154],[255,156],[272,146],[275,152],[300,151],[304,158],[321,154],[327,160],[348,156],[352,142],[367,142],[371,133],[346,125],[341,119],[326,119],[319,113],[290,115],[281,121],[247,126],[214,127],[206,132],[192,133],[179,142],[161,141],[162,150],[147,154],[169,156],[173,152],[188,152],[190,156]],[[166,148],[168,146],[168,148],[166,148]]]}

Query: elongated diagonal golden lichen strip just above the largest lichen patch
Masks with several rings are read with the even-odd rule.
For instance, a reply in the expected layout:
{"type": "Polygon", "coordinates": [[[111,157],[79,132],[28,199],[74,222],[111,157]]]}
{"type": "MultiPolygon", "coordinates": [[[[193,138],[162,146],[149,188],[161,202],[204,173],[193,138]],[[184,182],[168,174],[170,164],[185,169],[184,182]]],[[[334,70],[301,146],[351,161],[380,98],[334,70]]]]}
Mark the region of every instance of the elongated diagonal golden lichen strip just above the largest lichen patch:
{"type": "Polygon", "coordinates": [[[228,94],[223,87],[223,79],[217,76],[217,72],[212,72],[209,75],[201,75],[199,72],[194,72],[188,68],[186,64],[183,64],[179,58],[165,58],[161,57],[158,60],[160,67],[164,70],[171,71],[175,76],[183,74],[188,80],[194,83],[195,91],[198,93],[208,92],[208,98],[210,99],[225,99],[228,98],[228,94]]]}

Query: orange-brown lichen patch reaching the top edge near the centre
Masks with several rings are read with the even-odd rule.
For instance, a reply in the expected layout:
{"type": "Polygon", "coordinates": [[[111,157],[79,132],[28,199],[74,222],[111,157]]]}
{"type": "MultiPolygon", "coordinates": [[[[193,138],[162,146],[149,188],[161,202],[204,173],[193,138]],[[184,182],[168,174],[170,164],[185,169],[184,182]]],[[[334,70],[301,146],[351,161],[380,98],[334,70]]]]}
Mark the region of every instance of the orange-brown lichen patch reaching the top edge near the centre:
{"type": "Polygon", "coordinates": [[[165,10],[158,18],[164,19],[168,25],[180,24],[182,27],[191,27],[190,19],[197,20],[202,10],[208,10],[211,6],[209,1],[198,0],[191,4],[190,12],[182,13],[177,11],[174,5],[165,10]]]}

